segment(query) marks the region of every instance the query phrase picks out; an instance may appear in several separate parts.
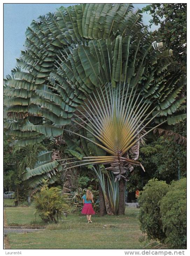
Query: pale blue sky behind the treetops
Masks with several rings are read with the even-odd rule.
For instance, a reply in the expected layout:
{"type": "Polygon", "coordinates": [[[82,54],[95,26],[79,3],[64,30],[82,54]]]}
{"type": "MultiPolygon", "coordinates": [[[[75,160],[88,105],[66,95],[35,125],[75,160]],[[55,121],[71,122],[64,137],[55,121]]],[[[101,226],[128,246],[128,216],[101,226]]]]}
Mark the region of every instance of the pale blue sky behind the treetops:
{"type": "MultiPolygon", "coordinates": [[[[48,12],[55,12],[56,8],[60,6],[68,7],[70,5],[76,4],[3,4],[4,78],[16,66],[16,58],[19,58],[20,51],[24,50],[25,31],[31,21],[48,12]]],[[[135,9],[141,9],[148,4],[133,5],[135,9]]],[[[150,19],[149,14],[143,14],[145,25],[148,25],[150,19]]]]}

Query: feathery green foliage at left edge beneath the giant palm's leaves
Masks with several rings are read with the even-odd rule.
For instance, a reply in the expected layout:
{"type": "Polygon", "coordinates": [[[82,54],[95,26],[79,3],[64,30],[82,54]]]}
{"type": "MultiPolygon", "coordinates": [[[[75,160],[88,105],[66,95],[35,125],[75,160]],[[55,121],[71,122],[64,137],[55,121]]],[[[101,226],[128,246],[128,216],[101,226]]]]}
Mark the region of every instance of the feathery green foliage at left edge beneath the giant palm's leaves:
{"type": "Polygon", "coordinates": [[[4,190],[15,191],[15,204],[20,204],[28,196],[28,183],[23,182],[23,173],[27,167],[34,167],[38,153],[47,147],[44,143],[17,147],[14,145],[16,139],[17,137],[3,134],[3,182],[4,190]]]}

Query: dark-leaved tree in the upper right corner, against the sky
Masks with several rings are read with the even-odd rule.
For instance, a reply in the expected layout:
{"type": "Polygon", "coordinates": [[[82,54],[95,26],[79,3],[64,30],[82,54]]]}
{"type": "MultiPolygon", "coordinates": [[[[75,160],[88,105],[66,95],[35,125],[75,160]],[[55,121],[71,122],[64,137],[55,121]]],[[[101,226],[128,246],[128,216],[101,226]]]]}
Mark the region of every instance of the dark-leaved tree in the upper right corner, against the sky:
{"type": "Polygon", "coordinates": [[[153,32],[154,40],[161,40],[173,50],[174,57],[185,70],[187,62],[187,4],[151,4],[143,8],[153,19],[150,27],[160,25],[153,32]]]}

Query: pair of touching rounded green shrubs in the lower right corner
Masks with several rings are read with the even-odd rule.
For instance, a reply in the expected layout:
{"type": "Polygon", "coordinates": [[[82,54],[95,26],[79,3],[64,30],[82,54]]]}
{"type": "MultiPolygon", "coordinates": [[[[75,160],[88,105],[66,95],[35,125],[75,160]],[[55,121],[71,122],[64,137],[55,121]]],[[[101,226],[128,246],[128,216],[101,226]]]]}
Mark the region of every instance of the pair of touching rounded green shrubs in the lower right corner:
{"type": "Polygon", "coordinates": [[[148,239],[174,249],[187,247],[187,179],[167,185],[149,180],[139,197],[140,228],[148,239]]]}

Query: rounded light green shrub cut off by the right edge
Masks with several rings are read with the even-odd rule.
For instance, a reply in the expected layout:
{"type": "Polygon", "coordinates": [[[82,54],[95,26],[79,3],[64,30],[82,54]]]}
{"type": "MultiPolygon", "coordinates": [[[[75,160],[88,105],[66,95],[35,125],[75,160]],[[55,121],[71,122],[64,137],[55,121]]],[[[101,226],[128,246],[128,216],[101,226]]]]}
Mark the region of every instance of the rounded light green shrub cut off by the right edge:
{"type": "Polygon", "coordinates": [[[187,247],[187,179],[171,183],[169,191],[160,202],[162,228],[165,242],[175,249],[187,247]]]}

